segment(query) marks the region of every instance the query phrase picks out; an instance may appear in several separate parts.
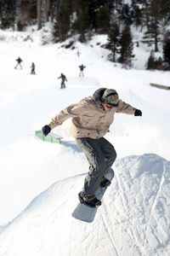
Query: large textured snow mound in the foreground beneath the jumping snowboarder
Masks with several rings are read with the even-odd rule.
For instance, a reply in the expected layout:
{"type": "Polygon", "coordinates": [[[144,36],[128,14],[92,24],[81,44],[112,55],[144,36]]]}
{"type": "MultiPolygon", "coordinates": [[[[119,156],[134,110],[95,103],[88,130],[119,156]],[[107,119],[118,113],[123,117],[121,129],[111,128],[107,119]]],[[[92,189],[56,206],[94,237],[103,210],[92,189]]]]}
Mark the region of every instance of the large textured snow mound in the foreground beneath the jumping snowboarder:
{"type": "Polygon", "coordinates": [[[54,183],[0,234],[5,256],[164,255],[170,251],[170,162],[156,154],[116,160],[92,224],[71,217],[85,174],[54,183]]]}

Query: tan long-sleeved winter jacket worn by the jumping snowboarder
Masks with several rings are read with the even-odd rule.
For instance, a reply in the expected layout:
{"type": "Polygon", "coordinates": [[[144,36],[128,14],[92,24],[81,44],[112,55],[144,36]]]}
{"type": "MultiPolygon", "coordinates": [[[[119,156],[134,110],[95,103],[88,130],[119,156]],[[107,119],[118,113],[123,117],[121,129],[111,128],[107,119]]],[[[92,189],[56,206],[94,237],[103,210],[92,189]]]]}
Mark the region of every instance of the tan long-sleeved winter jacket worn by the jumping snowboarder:
{"type": "Polygon", "coordinates": [[[93,96],[83,98],[81,102],[71,104],[57,113],[49,123],[51,129],[62,125],[71,118],[71,135],[73,137],[91,137],[97,139],[105,136],[114,120],[115,113],[133,114],[136,108],[120,100],[119,106],[105,111],[103,106],[96,104],[93,96]]]}

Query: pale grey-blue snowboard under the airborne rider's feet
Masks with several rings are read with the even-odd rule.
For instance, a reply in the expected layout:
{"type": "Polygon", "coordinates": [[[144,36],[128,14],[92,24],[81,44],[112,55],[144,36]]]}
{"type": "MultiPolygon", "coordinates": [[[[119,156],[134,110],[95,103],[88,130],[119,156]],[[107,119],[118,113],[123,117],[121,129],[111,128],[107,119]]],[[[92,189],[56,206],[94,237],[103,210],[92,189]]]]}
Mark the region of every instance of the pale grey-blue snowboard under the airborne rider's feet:
{"type": "MultiPolygon", "coordinates": [[[[114,171],[113,169],[110,169],[109,172],[105,174],[105,177],[109,180],[112,180],[114,177],[114,171]]],[[[106,189],[99,186],[97,189],[95,196],[101,201],[103,195],[105,194],[106,189]]],[[[100,206],[102,207],[102,205],[100,206]]],[[[72,212],[72,217],[77,218],[79,220],[82,220],[84,222],[91,223],[94,221],[96,212],[99,207],[88,207],[84,204],[81,204],[80,202],[77,204],[77,207],[75,208],[74,212],[72,212]]]]}

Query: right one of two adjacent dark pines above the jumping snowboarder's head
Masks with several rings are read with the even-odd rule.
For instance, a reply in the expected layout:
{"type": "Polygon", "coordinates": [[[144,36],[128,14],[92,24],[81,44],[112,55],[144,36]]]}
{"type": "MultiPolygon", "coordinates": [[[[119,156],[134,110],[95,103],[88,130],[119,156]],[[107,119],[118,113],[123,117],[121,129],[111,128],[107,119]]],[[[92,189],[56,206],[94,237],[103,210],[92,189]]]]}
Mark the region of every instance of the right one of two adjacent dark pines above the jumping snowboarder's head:
{"type": "Polygon", "coordinates": [[[121,49],[119,61],[129,67],[132,67],[133,55],[133,38],[130,27],[126,25],[122,31],[121,49]]]}

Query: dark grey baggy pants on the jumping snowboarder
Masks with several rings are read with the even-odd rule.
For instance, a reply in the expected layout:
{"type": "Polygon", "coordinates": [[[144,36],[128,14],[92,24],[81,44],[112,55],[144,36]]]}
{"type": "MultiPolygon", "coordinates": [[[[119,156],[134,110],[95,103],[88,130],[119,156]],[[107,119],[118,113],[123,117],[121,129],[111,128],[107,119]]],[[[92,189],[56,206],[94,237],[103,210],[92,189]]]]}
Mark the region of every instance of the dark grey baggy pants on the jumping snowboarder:
{"type": "Polygon", "coordinates": [[[116,160],[116,150],[104,137],[77,138],[78,148],[81,148],[88,159],[89,171],[84,180],[82,196],[94,195],[99,188],[103,176],[109,171],[116,160]]]}

